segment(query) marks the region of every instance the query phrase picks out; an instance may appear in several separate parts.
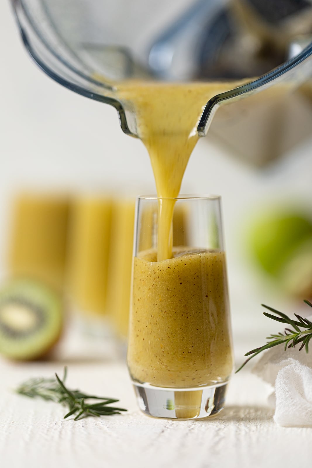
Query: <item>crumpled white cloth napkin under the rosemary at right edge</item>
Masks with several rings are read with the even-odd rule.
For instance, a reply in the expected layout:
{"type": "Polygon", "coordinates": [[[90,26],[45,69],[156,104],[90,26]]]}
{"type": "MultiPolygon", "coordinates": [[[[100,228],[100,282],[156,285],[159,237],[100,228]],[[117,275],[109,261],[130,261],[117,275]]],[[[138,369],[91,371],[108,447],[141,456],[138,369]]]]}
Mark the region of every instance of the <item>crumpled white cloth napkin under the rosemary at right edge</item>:
{"type": "MultiPolygon", "coordinates": [[[[312,317],[308,317],[312,320],[312,317]]],[[[312,342],[310,342],[312,345],[312,342]]],[[[312,346],[305,349],[275,346],[266,351],[253,373],[273,387],[269,403],[275,406],[274,420],[284,427],[312,427],[312,346]]]]}

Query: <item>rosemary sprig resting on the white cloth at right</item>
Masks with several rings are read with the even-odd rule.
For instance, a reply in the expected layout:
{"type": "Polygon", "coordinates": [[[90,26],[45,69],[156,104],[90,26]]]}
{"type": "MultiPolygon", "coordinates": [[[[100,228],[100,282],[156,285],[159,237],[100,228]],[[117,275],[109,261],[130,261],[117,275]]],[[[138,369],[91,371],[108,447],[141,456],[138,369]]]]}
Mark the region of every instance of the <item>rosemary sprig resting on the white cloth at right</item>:
{"type": "MultiPolygon", "coordinates": [[[[305,300],[305,303],[308,306],[312,307],[312,303],[309,300],[305,300]]],[[[307,319],[304,319],[298,314],[295,314],[297,320],[293,320],[286,314],[283,314],[282,312],[279,312],[278,310],[273,309],[272,307],[265,306],[264,304],[261,305],[269,311],[277,314],[276,316],[269,314],[268,312],[263,312],[263,315],[270,319],[276,320],[276,322],[286,323],[287,325],[290,325],[291,328],[285,328],[284,333],[280,332],[277,335],[267,336],[267,340],[269,341],[266,344],[247,352],[245,356],[249,356],[249,358],[246,359],[244,364],[242,364],[235,373],[238,373],[240,369],[242,369],[245,366],[245,364],[247,364],[247,362],[250,361],[250,359],[257,356],[257,354],[269,348],[273,348],[274,346],[278,346],[279,344],[283,344],[284,350],[286,351],[287,347],[294,348],[296,344],[301,343],[299,351],[305,348],[305,352],[309,352],[309,342],[312,339],[312,322],[310,322],[307,319]]]]}

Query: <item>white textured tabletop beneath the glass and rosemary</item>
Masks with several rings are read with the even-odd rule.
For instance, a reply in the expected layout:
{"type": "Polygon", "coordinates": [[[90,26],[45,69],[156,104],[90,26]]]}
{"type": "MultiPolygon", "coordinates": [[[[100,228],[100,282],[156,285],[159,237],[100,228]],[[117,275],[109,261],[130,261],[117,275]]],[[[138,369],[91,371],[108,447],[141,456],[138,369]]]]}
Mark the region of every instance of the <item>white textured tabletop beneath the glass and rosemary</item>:
{"type": "Polygon", "coordinates": [[[234,376],[227,406],[214,419],[169,421],[136,406],[122,363],[71,363],[70,386],[120,397],[122,416],[63,420],[64,409],[12,392],[21,380],[62,372],[63,363],[0,361],[0,466],[308,467],[312,429],[281,428],[266,399],[271,388],[248,371],[234,376]],[[299,450],[295,447],[300,447],[299,450]]]}

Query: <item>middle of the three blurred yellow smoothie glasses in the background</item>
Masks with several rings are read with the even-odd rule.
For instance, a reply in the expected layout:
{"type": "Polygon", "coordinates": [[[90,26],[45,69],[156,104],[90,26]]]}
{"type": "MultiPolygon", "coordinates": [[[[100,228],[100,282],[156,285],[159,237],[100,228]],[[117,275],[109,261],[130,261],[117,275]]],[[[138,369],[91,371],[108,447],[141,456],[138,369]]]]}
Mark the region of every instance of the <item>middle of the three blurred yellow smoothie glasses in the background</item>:
{"type": "Polygon", "coordinates": [[[68,244],[68,287],[75,307],[91,319],[103,318],[107,311],[111,220],[111,197],[75,197],[68,244]]]}

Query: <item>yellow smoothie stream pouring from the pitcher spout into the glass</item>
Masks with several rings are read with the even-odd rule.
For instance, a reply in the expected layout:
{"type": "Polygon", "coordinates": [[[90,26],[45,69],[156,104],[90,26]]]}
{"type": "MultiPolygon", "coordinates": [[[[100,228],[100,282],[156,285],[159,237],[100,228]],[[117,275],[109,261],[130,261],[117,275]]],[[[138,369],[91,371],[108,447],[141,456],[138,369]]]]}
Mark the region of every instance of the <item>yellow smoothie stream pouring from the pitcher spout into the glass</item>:
{"type": "MultiPolygon", "coordinates": [[[[238,86],[238,84],[237,84],[238,86]]],[[[179,195],[189,157],[197,143],[197,124],[203,107],[233,83],[168,84],[131,82],[117,87],[121,100],[132,102],[138,134],[150,155],[159,206],[158,255],[172,257],[170,235],[174,201],[179,195]]]]}

